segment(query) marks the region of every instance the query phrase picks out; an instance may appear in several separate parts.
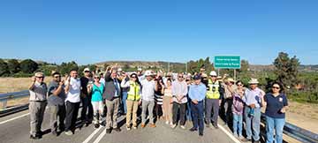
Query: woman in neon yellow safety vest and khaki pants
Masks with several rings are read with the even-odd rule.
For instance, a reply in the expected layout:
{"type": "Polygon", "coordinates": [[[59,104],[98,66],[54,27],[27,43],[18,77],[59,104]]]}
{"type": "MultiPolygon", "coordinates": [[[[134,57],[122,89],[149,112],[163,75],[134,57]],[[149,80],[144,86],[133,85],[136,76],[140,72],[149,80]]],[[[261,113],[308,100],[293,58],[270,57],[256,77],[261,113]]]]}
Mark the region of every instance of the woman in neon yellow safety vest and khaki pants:
{"type": "MultiPolygon", "coordinates": [[[[125,74],[125,79],[127,75],[125,74]]],[[[136,73],[133,73],[128,80],[128,82],[122,82],[121,87],[127,88],[127,98],[125,100],[125,105],[127,109],[126,114],[126,129],[130,131],[132,129],[131,121],[133,115],[133,129],[137,129],[137,111],[140,105],[140,93],[141,86],[140,81],[136,73]]]]}

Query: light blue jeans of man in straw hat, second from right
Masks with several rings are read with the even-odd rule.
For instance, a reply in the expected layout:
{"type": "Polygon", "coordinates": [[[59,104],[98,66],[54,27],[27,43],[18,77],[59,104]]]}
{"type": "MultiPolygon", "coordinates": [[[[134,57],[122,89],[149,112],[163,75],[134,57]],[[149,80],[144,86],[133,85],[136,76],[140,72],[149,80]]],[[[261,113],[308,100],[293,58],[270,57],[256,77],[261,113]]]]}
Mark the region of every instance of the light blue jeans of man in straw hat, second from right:
{"type": "Polygon", "coordinates": [[[253,129],[253,139],[255,141],[260,140],[260,125],[261,125],[261,109],[254,109],[254,117],[248,116],[251,108],[245,107],[244,117],[246,119],[246,135],[247,139],[252,139],[252,129],[253,129]]]}

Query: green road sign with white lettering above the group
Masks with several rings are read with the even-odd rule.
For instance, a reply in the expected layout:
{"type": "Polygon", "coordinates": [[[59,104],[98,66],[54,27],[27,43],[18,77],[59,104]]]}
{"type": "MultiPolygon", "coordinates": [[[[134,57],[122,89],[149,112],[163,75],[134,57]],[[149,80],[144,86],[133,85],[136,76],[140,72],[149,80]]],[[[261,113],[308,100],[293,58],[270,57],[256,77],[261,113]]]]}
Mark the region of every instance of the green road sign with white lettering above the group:
{"type": "Polygon", "coordinates": [[[216,69],[240,69],[240,56],[215,56],[216,69]]]}

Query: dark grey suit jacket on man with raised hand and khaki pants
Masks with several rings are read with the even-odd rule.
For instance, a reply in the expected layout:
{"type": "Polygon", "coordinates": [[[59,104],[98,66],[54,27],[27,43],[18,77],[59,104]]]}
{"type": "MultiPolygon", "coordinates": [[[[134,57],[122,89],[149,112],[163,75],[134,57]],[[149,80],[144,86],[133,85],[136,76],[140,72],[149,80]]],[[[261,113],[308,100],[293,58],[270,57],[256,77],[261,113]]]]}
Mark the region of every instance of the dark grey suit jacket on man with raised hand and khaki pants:
{"type": "MultiPolygon", "coordinates": [[[[119,88],[120,88],[120,80],[117,79],[117,81],[118,81],[119,88]]],[[[114,79],[110,78],[110,71],[108,71],[105,74],[105,88],[104,88],[104,92],[102,94],[102,98],[109,100],[109,101],[112,101],[112,100],[114,100],[115,92],[116,92],[116,87],[114,84],[114,79]]],[[[121,92],[118,93],[119,96],[120,96],[120,93],[121,92]]]]}

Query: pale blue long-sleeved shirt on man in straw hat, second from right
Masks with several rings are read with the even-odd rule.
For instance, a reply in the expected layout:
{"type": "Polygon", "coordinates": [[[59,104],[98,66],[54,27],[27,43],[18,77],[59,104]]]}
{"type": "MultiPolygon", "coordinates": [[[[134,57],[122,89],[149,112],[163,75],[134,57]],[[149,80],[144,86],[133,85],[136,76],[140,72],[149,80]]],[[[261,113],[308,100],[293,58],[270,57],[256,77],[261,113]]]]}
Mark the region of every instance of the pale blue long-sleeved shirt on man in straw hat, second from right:
{"type": "Polygon", "coordinates": [[[243,96],[243,102],[245,102],[247,106],[255,104],[255,108],[261,108],[261,96],[264,94],[265,93],[258,87],[254,90],[247,88],[243,96]]]}

